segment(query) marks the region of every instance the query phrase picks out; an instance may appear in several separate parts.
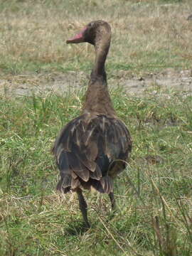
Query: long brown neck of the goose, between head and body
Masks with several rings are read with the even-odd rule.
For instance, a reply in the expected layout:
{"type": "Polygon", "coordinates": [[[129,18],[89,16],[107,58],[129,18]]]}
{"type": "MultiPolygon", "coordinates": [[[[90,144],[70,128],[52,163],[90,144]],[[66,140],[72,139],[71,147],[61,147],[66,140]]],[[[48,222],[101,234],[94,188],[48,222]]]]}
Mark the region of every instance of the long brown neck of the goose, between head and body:
{"type": "Polygon", "coordinates": [[[84,112],[95,112],[115,116],[110,94],[107,87],[105,60],[110,48],[110,40],[97,43],[95,46],[95,66],[92,70],[87,88],[84,112]]]}

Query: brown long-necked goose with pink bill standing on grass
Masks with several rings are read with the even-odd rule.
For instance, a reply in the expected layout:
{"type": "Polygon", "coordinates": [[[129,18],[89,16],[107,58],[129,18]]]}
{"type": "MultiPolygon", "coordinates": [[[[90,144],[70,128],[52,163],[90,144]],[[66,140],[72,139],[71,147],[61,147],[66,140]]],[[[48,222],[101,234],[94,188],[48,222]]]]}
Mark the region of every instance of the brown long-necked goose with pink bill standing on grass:
{"type": "Polygon", "coordinates": [[[123,171],[132,151],[132,137],[117,117],[107,87],[105,60],[110,48],[111,27],[106,21],[91,21],[66,43],[90,43],[95,47],[85,102],[79,117],[68,122],[55,139],[53,154],[60,171],[57,190],[78,193],[86,228],[87,202],[83,190],[107,193],[115,210],[113,179],[123,171]]]}

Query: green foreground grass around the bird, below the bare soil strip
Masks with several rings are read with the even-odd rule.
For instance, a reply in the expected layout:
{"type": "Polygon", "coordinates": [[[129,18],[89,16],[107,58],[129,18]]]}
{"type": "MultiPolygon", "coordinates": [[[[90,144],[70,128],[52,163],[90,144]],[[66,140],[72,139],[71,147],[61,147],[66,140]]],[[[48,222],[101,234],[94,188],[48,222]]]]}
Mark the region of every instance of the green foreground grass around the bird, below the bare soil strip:
{"type": "Polygon", "coordinates": [[[132,159],[115,181],[113,218],[106,195],[85,193],[87,231],[77,199],[55,193],[58,170],[50,154],[82,98],[82,92],[1,97],[0,254],[191,255],[192,97],[112,91],[134,140],[132,159]]]}

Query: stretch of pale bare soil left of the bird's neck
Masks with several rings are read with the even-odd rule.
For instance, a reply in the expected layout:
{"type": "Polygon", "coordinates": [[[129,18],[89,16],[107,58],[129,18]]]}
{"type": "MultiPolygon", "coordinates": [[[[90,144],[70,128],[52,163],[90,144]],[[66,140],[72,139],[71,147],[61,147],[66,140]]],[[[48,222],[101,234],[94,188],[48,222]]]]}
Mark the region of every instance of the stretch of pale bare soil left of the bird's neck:
{"type": "Polygon", "coordinates": [[[85,75],[80,72],[48,75],[15,75],[0,79],[0,94],[11,96],[46,95],[80,90],[85,85],[85,75]]]}

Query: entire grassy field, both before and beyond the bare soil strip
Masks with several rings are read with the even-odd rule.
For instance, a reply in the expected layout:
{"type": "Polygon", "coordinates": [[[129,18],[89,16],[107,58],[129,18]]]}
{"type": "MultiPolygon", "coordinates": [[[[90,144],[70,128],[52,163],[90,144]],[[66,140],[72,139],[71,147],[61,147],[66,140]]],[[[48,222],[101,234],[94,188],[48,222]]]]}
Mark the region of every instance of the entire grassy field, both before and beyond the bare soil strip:
{"type": "MultiPolygon", "coordinates": [[[[112,25],[107,73],[116,80],[118,70],[191,68],[190,0],[103,2],[1,1],[1,78],[90,73],[94,50],[65,39],[97,18],[112,25]]],[[[50,154],[60,128],[80,114],[84,90],[0,95],[0,255],[191,256],[191,94],[156,85],[142,97],[111,91],[133,137],[132,159],[114,182],[114,216],[106,195],[85,193],[85,230],[75,194],[55,192],[50,154]]]]}

